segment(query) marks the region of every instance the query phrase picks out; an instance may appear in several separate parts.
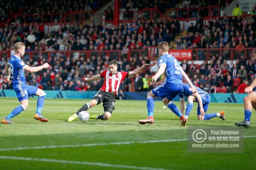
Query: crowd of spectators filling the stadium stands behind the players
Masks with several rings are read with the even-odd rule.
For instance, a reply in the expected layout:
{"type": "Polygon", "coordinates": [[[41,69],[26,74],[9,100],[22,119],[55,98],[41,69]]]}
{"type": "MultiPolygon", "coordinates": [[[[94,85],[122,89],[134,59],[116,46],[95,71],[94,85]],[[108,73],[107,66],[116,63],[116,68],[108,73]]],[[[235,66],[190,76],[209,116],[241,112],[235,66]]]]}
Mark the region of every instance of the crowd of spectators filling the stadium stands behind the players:
{"type": "MultiPolygon", "coordinates": [[[[80,8],[89,7],[91,9],[97,8],[97,1],[86,1],[83,6],[78,9],[69,10],[83,10],[80,8]]],[[[139,1],[140,2],[140,1],[139,1]]],[[[145,1],[149,2],[149,1],[145,1]]],[[[144,2],[144,3],[145,3],[144,2]]],[[[160,1],[162,3],[162,1],[160,1]]],[[[34,7],[36,11],[40,12],[61,12],[62,6],[69,4],[69,1],[53,1],[56,9],[49,11],[40,10],[39,7],[34,7]],[[56,5],[56,3],[60,3],[56,5]],[[56,11],[54,11],[56,10],[56,11]]],[[[126,7],[131,4],[129,1],[121,1],[122,6],[126,7]]],[[[150,4],[150,3],[149,3],[150,4]]],[[[2,3],[2,8],[3,8],[2,3]]],[[[133,4],[134,5],[134,4],[133,4]]],[[[152,4],[150,4],[152,5],[152,4]]],[[[153,5],[157,5],[154,4],[153,5]]],[[[24,9],[26,5],[23,5],[24,9]]],[[[22,7],[23,7],[22,6],[22,7]]],[[[0,8],[1,8],[0,7],[0,8]]],[[[15,6],[8,6],[13,9],[15,6]]],[[[75,6],[76,7],[76,6],[75,6]]],[[[77,6],[78,7],[78,6],[77,6]]],[[[7,9],[8,9],[7,8],[7,9]]],[[[24,10],[28,11],[28,10],[24,10]]],[[[6,14],[8,10],[6,11],[6,14]]],[[[3,15],[4,16],[4,15],[3,15]]],[[[3,21],[3,17],[1,14],[3,21]]],[[[6,19],[6,18],[4,18],[6,19]]],[[[102,85],[102,80],[92,83],[82,82],[82,77],[91,77],[99,74],[104,70],[110,61],[108,56],[91,57],[86,59],[84,57],[73,58],[58,58],[51,56],[45,58],[41,52],[49,51],[71,51],[71,50],[140,50],[146,46],[157,46],[161,41],[171,42],[173,49],[188,49],[188,48],[237,48],[237,60],[235,63],[227,64],[230,59],[230,52],[227,50],[220,56],[220,54],[211,53],[211,59],[204,61],[202,65],[195,65],[194,62],[182,62],[183,69],[193,80],[195,85],[204,88],[206,91],[216,92],[216,87],[225,86],[227,92],[233,92],[233,79],[240,78],[242,85],[248,85],[255,77],[255,58],[250,58],[252,55],[246,55],[240,51],[246,47],[255,47],[255,21],[251,16],[248,17],[224,17],[216,20],[209,19],[204,22],[200,15],[197,16],[196,24],[194,26],[191,22],[190,27],[186,31],[180,32],[180,23],[176,17],[169,21],[163,20],[138,20],[131,25],[120,24],[118,27],[105,27],[93,23],[83,25],[61,26],[60,29],[52,30],[49,34],[45,34],[44,25],[41,22],[35,25],[22,25],[6,23],[0,28],[0,51],[8,51],[12,48],[13,43],[22,41],[26,44],[26,51],[39,51],[36,58],[25,58],[28,65],[41,65],[48,62],[51,67],[45,72],[39,74],[28,74],[26,78],[29,84],[37,86],[46,90],[98,90],[102,85]],[[245,58],[246,56],[246,58],[245,58]],[[213,90],[212,90],[213,89],[213,90]]],[[[206,58],[200,58],[205,60],[206,58]]],[[[5,73],[5,64],[7,58],[2,58],[0,61],[0,89],[12,88],[3,84],[3,77],[5,73]]],[[[149,63],[148,58],[143,56],[133,56],[130,61],[122,59],[119,61],[119,70],[130,71],[141,66],[144,63],[149,63]]],[[[150,82],[148,85],[148,75],[152,72],[146,71],[140,77],[135,78],[135,90],[148,91],[155,86],[155,83],[150,82]]],[[[121,90],[131,90],[131,79],[120,86],[121,90]]],[[[241,92],[236,90],[234,92],[241,92]]]]}

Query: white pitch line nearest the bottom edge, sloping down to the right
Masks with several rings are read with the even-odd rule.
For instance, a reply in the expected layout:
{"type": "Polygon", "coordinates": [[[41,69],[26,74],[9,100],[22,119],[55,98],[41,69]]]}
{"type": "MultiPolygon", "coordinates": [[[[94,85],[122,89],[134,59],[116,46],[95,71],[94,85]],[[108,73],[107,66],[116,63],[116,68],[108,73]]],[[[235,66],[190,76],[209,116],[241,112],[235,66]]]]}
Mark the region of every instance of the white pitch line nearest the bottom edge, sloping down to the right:
{"type": "Polygon", "coordinates": [[[79,164],[79,165],[92,165],[92,166],[103,166],[103,167],[118,167],[127,169],[142,169],[142,170],[166,170],[163,168],[153,168],[153,167],[142,167],[142,166],[131,166],[131,165],[118,165],[118,164],[108,164],[101,162],[79,162],[79,161],[68,161],[68,160],[58,160],[58,159],[45,159],[45,158],[27,158],[27,157],[14,157],[14,156],[0,156],[0,159],[12,159],[12,160],[25,160],[25,161],[39,161],[39,162],[54,162],[54,163],[69,163],[69,164],[79,164]]]}

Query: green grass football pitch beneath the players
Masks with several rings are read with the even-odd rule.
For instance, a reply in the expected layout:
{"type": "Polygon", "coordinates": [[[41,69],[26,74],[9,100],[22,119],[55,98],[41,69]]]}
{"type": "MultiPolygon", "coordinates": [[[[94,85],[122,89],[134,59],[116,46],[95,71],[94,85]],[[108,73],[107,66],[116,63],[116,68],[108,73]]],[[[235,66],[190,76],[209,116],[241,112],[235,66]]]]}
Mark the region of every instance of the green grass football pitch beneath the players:
{"type": "MultiPolygon", "coordinates": [[[[256,161],[256,116],[251,128],[243,129],[243,153],[188,153],[187,126],[236,127],[244,118],[242,104],[209,105],[208,113],[225,111],[219,117],[197,120],[194,104],[186,127],[162,102],[155,105],[155,123],[140,125],[147,116],[146,101],[116,101],[109,120],[68,118],[90,100],[46,99],[41,123],[33,118],[36,99],[12,119],[0,125],[0,169],[254,169],[256,161]]],[[[176,103],[179,108],[179,103],[176,103]]],[[[19,105],[17,99],[0,98],[0,118],[19,105]]],[[[103,113],[102,104],[88,111],[103,113]]]]}

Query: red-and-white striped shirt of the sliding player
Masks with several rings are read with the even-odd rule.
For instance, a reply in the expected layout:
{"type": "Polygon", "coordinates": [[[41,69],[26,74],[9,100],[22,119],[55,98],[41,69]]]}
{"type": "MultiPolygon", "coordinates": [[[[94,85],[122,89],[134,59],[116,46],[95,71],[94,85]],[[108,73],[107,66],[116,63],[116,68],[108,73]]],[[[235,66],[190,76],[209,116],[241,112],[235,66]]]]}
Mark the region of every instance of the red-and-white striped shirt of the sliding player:
{"type": "Polygon", "coordinates": [[[112,75],[109,70],[104,70],[103,72],[101,72],[100,77],[104,78],[104,84],[102,85],[100,90],[115,93],[117,95],[120,83],[126,77],[128,77],[128,72],[117,71],[115,75],[112,75]]]}

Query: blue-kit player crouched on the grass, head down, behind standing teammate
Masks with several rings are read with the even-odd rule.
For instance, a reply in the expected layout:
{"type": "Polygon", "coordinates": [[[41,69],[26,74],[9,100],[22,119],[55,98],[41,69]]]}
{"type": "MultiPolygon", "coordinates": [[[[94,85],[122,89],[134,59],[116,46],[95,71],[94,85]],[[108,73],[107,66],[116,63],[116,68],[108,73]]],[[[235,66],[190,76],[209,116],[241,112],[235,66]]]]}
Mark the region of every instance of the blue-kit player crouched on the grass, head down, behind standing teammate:
{"type": "MultiPolygon", "coordinates": [[[[180,96],[180,110],[183,113],[184,112],[184,96],[188,97],[187,99],[187,107],[185,112],[185,117],[188,119],[188,115],[193,107],[193,101],[198,103],[197,107],[197,118],[198,120],[209,120],[212,117],[220,117],[222,120],[225,120],[224,111],[220,111],[218,113],[208,113],[205,114],[205,112],[208,110],[208,106],[210,103],[210,95],[202,90],[201,88],[194,86],[197,89],[196,93],[193,93],[191,91],[191,88],[188,84],[183,84],[183,91],[179,93],[180,96]]],[[[166,103],[166,99],[164,99],[164,104],[166,103]]]]}

